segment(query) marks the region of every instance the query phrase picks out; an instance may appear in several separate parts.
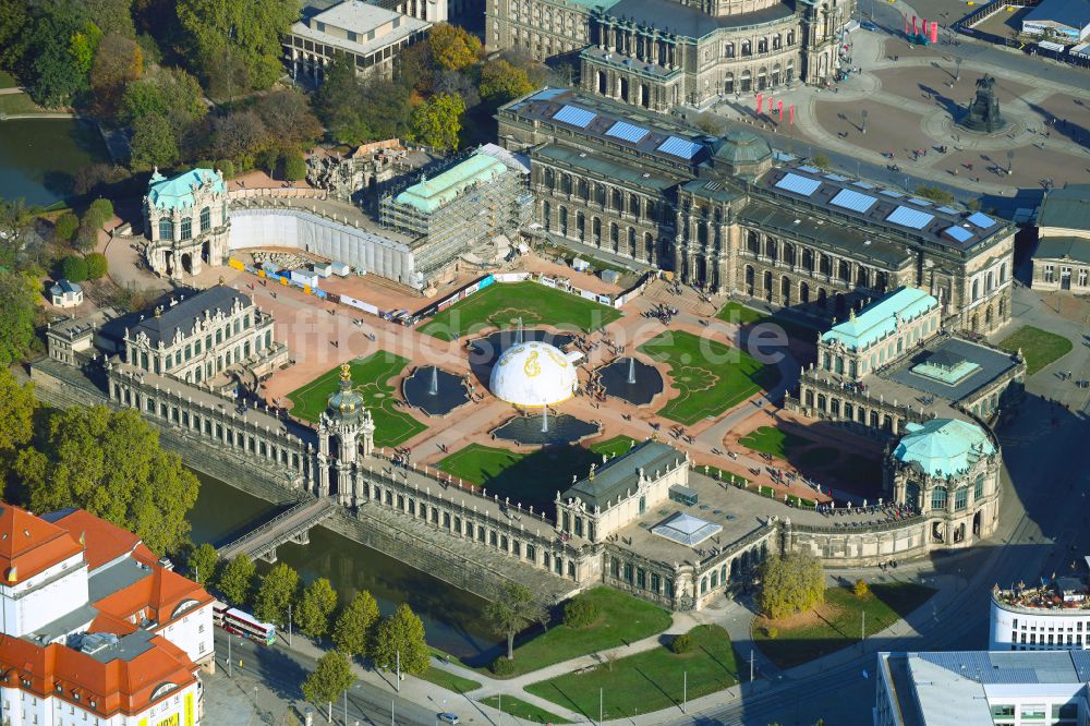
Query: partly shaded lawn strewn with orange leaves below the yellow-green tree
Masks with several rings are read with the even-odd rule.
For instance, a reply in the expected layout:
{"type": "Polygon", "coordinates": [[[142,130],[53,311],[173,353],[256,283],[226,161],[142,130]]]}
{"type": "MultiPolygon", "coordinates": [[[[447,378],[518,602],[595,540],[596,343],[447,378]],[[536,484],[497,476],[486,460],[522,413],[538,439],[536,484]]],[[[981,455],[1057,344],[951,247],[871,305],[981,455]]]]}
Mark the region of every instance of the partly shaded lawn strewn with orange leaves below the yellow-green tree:
{"type": "Polygon", "coordinates": [[[935,591],[911,582],[873,584],[871,593],[856,597],[846,588],[825,590],[825,606],[816,617],[796,616],[798,626],[783,626],[772,621],[779,632],[770,639],[764,630],[767,621],[754,620],[753,640],[761,652],[780,668],[807,663],[859,642],[862,631],[862,613],[867,613],[867,632],[875,633],[888,628],[925,603],[935,591]],[[824,615],[821,615],[824,613],[824,615]]]}

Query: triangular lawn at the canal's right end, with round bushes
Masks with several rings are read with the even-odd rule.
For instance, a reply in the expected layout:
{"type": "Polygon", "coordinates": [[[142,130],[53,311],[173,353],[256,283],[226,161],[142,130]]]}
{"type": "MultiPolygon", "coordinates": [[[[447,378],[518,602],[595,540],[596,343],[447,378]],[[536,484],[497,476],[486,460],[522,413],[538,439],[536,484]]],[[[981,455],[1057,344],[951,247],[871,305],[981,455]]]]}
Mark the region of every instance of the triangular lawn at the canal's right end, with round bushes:
{"type": "Polygon", "coordinates": [[[542,632],[540,627],[531,627],[529,640],[516,641],[511,677],[654,636],[673,621],[670,614],[657,605],[610,588],[595,588],[580,596],[597,604],[598,619],[578,629],[556,625],[542,632]]]}

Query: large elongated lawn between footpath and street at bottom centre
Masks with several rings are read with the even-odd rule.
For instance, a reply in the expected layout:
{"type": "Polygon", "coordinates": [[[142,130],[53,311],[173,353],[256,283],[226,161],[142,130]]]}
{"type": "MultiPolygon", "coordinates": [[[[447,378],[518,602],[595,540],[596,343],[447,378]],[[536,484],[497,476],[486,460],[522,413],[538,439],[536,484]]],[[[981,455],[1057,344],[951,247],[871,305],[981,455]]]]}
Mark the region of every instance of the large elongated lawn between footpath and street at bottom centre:
{"type": "Polygon", "coordinates": [[[609,719],[680,706],[683,691],[691,701],[737,683],[738,666],[727,632],[719,626],[698,626],[689,632],[694,648],[683,655],[659,645],[620,658],[611,667],[601,665],[533,683],[526,691],[596,721],[600,689],[603,716],[609,719]]]}

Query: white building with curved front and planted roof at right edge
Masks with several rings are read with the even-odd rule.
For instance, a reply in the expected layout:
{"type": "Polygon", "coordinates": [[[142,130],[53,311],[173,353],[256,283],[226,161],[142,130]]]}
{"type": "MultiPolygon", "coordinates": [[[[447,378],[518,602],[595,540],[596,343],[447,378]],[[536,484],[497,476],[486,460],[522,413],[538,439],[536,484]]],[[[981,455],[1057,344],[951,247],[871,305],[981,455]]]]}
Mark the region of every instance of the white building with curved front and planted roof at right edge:
{"type": "Polygon", "coordinates": [[[1036,588],[995,588],[988,648],[992,651],[1090,649],[1087,580],[1059,577],[1036,588]]]}

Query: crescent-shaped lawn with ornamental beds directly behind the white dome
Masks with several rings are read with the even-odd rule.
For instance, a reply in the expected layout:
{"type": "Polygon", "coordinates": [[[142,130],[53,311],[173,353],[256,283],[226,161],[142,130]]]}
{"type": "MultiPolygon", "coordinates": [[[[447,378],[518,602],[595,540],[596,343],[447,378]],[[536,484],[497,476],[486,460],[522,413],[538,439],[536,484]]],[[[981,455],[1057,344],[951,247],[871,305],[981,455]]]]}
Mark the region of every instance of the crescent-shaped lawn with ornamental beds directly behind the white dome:
{"type": "Polygon", "coordinates": [[[455,303],[419,329],[440,340],[451,340],[488,327],[514,327],[513,320],[520,317],[526,327],[550,325],[589,332],[617,319],[620,313],[537,282],[497,282],[455,303]]]}

